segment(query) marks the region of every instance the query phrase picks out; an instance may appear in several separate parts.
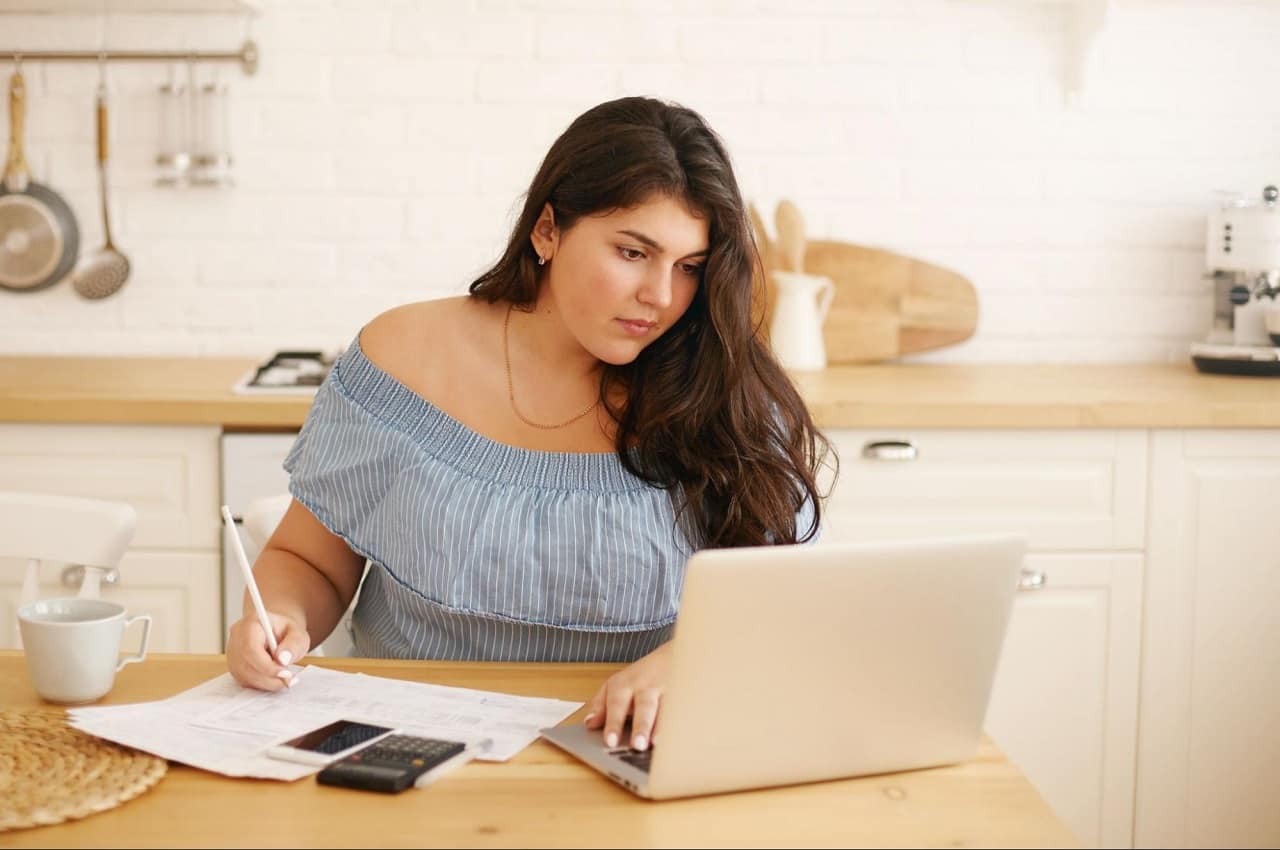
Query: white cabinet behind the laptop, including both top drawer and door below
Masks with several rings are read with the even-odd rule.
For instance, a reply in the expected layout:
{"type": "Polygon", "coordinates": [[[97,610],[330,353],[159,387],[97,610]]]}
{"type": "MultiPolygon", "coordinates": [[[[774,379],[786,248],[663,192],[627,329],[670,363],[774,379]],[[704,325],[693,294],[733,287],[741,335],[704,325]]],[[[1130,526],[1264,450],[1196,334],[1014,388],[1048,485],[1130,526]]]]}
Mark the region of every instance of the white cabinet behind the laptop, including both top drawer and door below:
{"type": "Polygon", "coordinates": [[[987,731],[1091,846],[1130,846],[1146,430],[831,430],[823,543],[1027,536],[987,731]]]}

